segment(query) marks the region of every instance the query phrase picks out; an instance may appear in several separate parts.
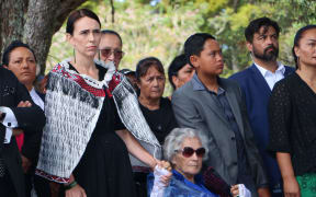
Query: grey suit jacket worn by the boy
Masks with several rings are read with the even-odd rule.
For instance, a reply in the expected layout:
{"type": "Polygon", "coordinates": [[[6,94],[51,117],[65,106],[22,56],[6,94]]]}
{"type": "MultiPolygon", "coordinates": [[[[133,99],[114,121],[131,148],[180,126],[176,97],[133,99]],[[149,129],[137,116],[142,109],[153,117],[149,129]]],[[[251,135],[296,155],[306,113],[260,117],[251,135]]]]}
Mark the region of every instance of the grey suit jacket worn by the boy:
{"type": "MultiPolygon", "coordinates": [[[[212,100],[207,91],[194,90],[194,76],[190,82],[177,90],[172,95],[172,107],[176,119],[181,127],[195,128],[208,137],[208,159],[206,165],[215,171],[229,185],[237,183],[237,147],[235,132],[225,118],[223,109],[212,100]]],[[[259,151],[255,144],[253,134],[248,123],[248,115],[241,90],[237,83],[218,78],[221,86],[232,107],[240,134],[244,139],[246,157],[257,186],[268,184],[259,151]]],[[[257,194],[256,190],[251,190],[257,194]]]]}

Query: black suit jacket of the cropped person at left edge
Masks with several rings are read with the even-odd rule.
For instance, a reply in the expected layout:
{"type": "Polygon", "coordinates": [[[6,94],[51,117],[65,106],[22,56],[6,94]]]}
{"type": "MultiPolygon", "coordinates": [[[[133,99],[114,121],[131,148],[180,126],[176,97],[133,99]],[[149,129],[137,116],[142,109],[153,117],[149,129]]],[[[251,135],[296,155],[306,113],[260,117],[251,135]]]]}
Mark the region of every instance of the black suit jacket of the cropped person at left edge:
{"type": "MultiPolygon", "coordinates": [[[[45,125],[44,112],[32,102],[26,88],[18,81],[11,71],[3,67],[0,67],[0,106],[12,109],[19,128],[23,129],[25,135],[40,131],[45,125]],[[21,101],[30,101],[32,106],[16,107],[21,101]]],[[[10,143],[3,143],[5,127],[0,124],[0,155],[4,160],[18,196],[23,197],[25,189],[20,152],[14,136],[12,136],[10,143]]]]}

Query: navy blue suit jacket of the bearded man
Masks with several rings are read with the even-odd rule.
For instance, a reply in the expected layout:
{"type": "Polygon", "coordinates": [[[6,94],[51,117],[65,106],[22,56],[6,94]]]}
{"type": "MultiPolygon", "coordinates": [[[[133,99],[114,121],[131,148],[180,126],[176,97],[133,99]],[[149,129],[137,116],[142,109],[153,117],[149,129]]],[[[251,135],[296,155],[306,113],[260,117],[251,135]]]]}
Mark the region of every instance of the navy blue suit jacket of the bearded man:
{"type": "MultiPolygon", "coordinates": [[[[293,71],[294,68],[285,66],[284,77],[293,71]]],[[[229,79],[236,80],[245,94],[250,126],[264,166],[267,167],[269,182],[271,186],[281,184],[281,173],[278,163],[266,151],[269,143],[268,102],[271,90],[255,63],[233,74],[229,79]]]]}

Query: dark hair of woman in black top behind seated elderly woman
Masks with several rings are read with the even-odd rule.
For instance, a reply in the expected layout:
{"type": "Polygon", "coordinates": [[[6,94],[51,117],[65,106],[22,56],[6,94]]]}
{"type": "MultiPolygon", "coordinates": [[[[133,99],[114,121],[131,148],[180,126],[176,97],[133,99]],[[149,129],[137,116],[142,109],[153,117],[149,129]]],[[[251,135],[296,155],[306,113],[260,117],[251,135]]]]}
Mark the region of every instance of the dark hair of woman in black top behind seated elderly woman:
{"type": "Polygon", "coordinates": [[[157,70],[165,76],[165,69],[162,62],[156,57],[147,57],[138,61],[136,66],[136,79],[140,81],[140,78],[144,77],[150,67],[156,67],[157,70]]]}

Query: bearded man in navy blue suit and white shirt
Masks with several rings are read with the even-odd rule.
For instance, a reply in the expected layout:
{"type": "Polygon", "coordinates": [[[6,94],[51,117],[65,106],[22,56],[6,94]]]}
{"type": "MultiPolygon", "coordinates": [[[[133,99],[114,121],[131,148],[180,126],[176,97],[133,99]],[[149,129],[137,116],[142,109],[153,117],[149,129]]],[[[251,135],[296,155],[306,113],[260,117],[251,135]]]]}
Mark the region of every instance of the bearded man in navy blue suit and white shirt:
{"type": "Polygon", "coordinates": [[[269,141],[268,101],[274,84],[294,71],[276,61],[279,34],[278,23],[268,18],[251,21],[245,36],[253,63],[230,77],[239,83],[246,96],[249,121],[267,169],[272,196],[283,194],[278,163],[266,151],[269,141]]]}

